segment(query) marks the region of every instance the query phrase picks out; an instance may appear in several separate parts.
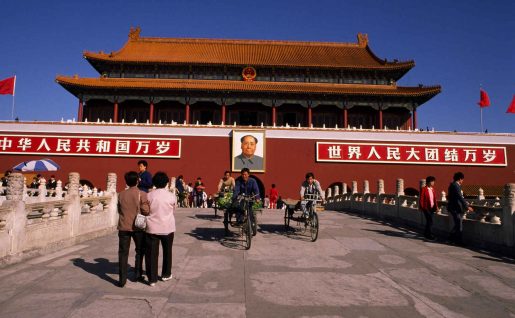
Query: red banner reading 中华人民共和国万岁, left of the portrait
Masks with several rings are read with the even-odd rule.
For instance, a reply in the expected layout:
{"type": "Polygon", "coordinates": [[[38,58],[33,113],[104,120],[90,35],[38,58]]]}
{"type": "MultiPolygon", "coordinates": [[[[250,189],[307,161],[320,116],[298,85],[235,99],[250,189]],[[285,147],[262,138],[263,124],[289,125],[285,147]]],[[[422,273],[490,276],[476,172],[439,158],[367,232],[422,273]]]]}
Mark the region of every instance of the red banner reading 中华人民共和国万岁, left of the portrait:
{"type": "Polygon", "coordinates": [[[0,154],[180,158],[181,139],[0,135],[0,154]]]}

